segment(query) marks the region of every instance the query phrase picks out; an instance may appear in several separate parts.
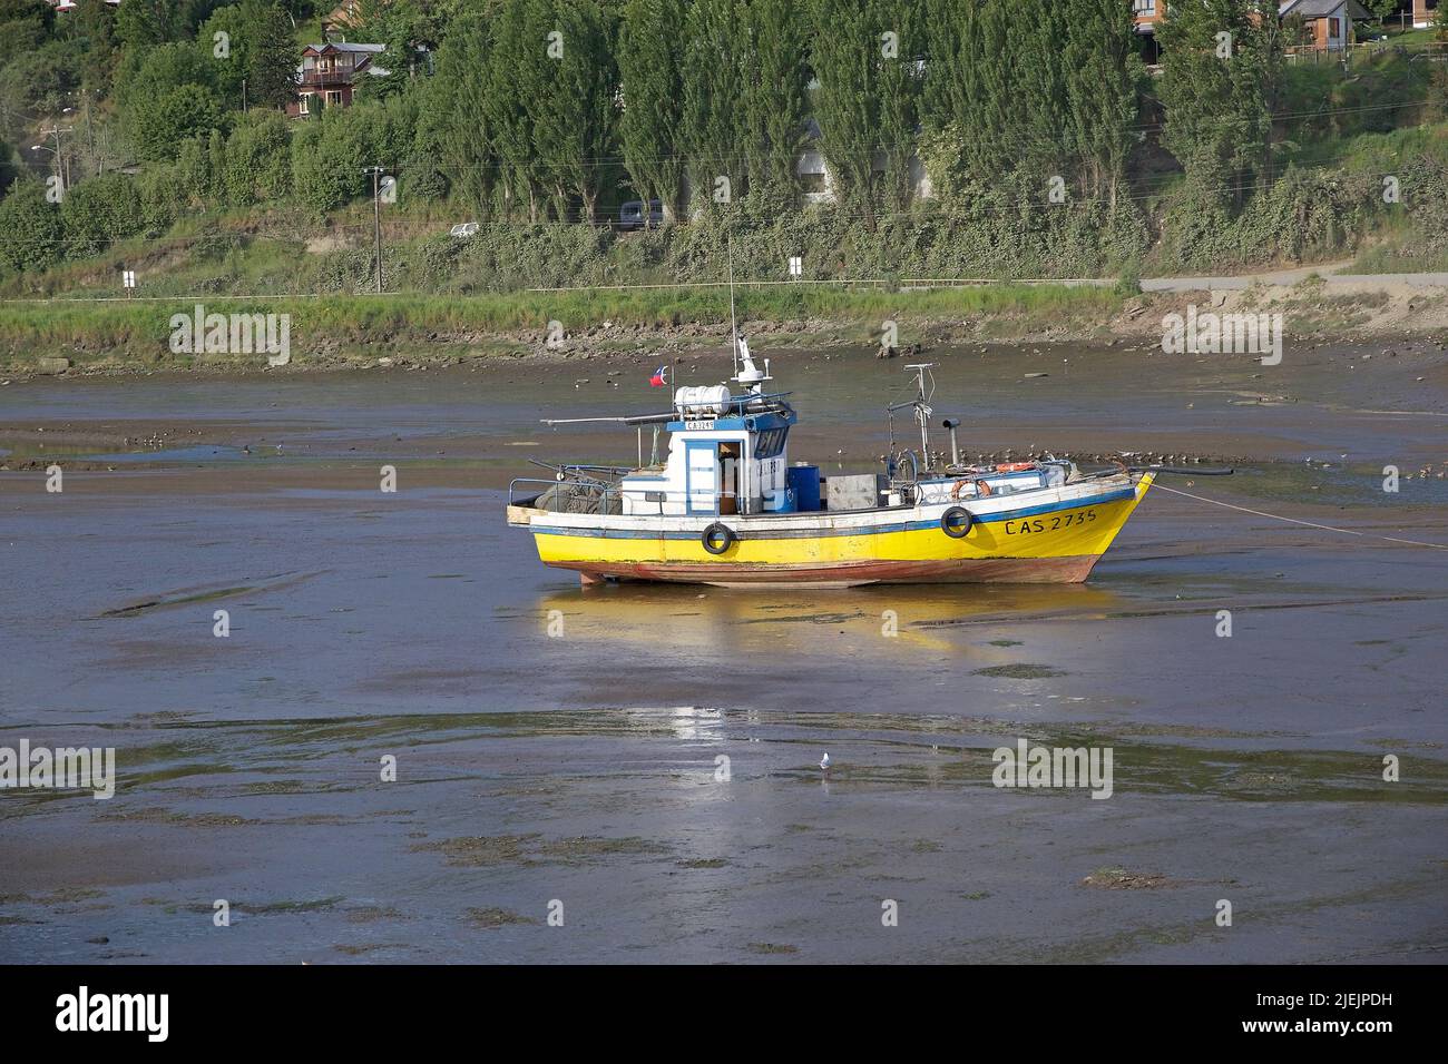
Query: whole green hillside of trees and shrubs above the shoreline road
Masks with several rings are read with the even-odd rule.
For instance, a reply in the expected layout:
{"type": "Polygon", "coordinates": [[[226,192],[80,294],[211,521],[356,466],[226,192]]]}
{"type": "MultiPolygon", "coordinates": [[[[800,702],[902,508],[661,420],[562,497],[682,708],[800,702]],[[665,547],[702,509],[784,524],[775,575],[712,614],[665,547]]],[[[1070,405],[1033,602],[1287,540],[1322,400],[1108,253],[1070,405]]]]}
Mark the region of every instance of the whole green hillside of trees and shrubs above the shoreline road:
{"type": "Polygon", "coordinates": [[[122,269],[152,297],[368,292],[369,166],[395,180],[384,288],[420,297],[717,282],[728,256],[888,287],[1442,268],[1434,32],[1290,62],[1276,6],[1173,6],[1148,69],[1127,0],[361,0],[346,38],[385,74],[297,119],[310,0],[0,0],[0,295],[119,295],[122,269]],[[639,197],[663,227],[608,224],[639,197]]]}

